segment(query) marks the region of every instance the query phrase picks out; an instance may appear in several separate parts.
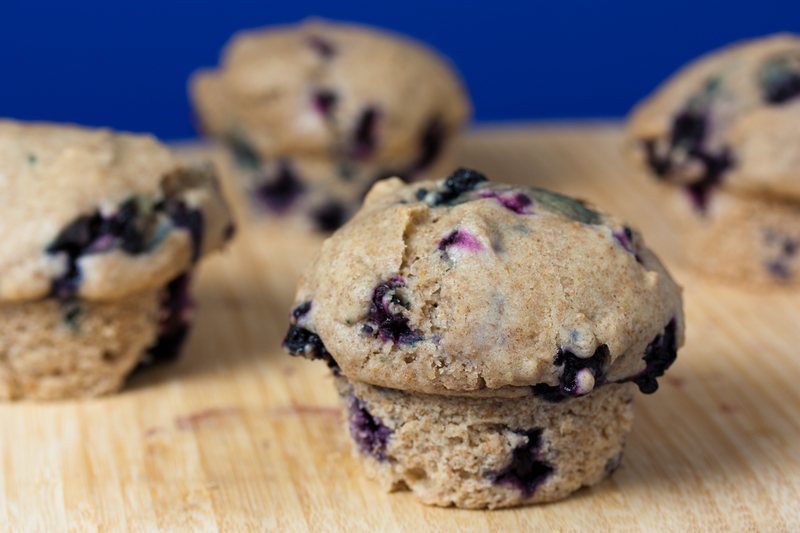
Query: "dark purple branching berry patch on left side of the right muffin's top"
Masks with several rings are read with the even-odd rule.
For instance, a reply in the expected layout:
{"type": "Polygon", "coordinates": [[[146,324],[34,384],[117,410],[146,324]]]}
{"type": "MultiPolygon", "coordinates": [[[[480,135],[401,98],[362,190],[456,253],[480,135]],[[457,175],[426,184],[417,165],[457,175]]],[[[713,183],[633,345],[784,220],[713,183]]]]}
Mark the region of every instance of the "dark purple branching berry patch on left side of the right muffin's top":
{"type": "Polygon", "coordinates": [[[734,163],[727,147],[716,153],[706,147],[711,105],[720,86],[719,79],[711,79],[689,99],[685,108],[673,118],[668,140],[643,141],[647,164],[659,179],[670,179],[687,161],[700,165],[700,177],[684,187],[692,205],[701,213],[706,212],[712,190],[734,163]]]}

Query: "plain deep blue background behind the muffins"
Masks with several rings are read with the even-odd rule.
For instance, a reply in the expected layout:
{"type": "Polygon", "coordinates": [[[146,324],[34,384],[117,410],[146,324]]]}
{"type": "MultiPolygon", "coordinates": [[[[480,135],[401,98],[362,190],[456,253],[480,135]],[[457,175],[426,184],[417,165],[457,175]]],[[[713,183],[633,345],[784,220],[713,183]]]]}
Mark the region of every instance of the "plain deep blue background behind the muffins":
{"type": "Polygon", "coordinates": [[[800,31],[800,0],[0,0],[0,116],[194,135],[186,79],[239,28],[318,15],[452,58],[476,120],[619,117],[699,53],[800,31]]]}

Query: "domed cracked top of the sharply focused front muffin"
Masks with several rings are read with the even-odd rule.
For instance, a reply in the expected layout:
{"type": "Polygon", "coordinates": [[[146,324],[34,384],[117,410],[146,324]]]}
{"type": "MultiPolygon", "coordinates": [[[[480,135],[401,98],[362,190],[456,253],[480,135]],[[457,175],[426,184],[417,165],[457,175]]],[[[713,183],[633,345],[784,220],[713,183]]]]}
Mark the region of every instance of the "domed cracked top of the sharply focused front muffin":
{"type": "Polygon", "coordinates": [[[460,169],[372,188],[305,273],[284,346],[374,385],[559,400],[652,392],[682,337],[680,289],[638,233],[460,169]]]}

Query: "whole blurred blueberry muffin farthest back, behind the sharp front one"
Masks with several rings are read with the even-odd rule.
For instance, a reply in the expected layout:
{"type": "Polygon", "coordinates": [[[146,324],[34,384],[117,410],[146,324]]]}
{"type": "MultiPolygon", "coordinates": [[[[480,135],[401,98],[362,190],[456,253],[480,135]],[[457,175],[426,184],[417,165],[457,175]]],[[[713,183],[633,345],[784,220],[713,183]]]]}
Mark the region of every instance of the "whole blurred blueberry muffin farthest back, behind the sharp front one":
{"type": "Polygon", "coordinates": [[[190,92],[253,212],[299,213],[322,231],[378,179],[438,175],[469,115],[461,82],[433,50],[321,20],[237,34],[190,92]]]}

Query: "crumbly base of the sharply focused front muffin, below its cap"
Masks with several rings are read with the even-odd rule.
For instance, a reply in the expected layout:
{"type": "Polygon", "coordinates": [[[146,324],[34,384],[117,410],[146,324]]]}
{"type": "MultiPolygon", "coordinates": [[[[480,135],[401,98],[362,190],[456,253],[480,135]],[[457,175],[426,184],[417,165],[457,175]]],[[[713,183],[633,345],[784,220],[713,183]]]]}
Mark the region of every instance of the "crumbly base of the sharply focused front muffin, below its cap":
{"type": "Polygon", "coordinates": [[[385,490],[495,509],[564,498],[619,465],[635,386],[552,403],[412,394],[336,378],[354,451],[385,490]]]}

